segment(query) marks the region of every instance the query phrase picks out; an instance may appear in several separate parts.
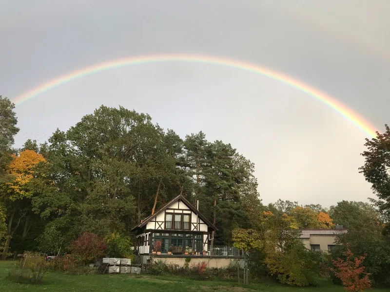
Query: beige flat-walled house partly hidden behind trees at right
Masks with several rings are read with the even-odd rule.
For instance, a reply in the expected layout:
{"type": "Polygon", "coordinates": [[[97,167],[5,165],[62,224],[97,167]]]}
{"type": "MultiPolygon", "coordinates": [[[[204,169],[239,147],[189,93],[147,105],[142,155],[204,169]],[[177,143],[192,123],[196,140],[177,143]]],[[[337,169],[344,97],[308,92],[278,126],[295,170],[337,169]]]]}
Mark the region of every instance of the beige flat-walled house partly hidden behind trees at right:
{"type": "Polygon", "coordinates": [[[301,229],[300,239],[307,249],[313,251],[330,251],[336,246],[335,237],[338,234],[347,233],[342,225],[336,225],[336,229],[301,229]]]}

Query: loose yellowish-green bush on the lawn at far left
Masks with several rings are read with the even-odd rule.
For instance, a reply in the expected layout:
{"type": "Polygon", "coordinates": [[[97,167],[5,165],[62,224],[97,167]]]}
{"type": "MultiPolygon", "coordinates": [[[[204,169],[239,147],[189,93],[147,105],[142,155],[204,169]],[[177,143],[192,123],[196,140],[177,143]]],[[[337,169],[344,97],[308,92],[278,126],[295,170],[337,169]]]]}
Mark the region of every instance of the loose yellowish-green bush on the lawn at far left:
{"type": "Polygon", "coordinates": [[[21,284],[41,284],[47,272],[47,263],[43,256],[24,253],[15,269],[8,274],[8,279],[21,284]]]}

